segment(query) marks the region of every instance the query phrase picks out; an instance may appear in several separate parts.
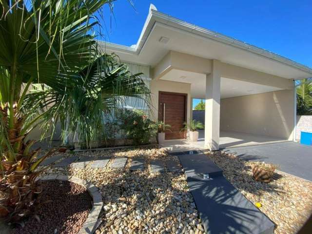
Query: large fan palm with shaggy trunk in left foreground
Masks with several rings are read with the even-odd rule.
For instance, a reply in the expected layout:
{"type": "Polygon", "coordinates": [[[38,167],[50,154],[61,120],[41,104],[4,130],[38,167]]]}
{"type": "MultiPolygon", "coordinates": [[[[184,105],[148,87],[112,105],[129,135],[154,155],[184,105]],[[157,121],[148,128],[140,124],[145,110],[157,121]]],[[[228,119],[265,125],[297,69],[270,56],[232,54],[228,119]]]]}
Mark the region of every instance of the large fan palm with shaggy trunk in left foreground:
{"type": "Polygon", "coordinates": [[[39,158],[26,136],[60,121],[63,137],[92,140],[102,113],[149,90],[115,55],[98,53],[95,13],[110,1],[0,2],[0,216],[18,221],[34,209],[36,169],[53,153],[39,158]]]}

